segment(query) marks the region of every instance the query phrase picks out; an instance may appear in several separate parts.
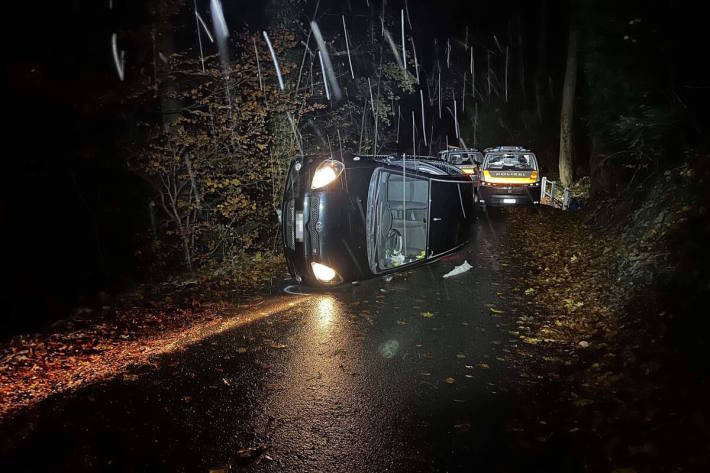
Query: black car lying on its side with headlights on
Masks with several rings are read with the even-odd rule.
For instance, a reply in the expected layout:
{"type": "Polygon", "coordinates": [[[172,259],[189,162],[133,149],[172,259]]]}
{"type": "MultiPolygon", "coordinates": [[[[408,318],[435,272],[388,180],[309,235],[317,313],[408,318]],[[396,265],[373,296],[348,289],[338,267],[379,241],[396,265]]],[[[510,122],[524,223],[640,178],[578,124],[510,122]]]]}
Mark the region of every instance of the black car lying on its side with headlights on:
{"type": "Polygon", "coordinates": [[[468,241],[473,183],[432,159],[345,153],[296,157],[282,204],[284,254],[307,285],[424,264],[468,241]]]}

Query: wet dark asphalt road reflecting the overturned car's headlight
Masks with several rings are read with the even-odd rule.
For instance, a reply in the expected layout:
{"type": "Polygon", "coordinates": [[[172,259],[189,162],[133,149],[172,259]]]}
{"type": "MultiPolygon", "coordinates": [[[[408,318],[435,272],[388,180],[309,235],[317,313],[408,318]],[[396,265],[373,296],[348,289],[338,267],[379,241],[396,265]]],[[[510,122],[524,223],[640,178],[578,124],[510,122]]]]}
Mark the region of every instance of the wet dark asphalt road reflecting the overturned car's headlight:
{"type": "Polygon", "coordinates": [[[530,471],[511,443],[527,402],[510,389],[515,321],[490,310],[504,231],[491,212],[447,260],[275,296],[275,313],[137,377],[45,401],[3,471],[530,471]]]}

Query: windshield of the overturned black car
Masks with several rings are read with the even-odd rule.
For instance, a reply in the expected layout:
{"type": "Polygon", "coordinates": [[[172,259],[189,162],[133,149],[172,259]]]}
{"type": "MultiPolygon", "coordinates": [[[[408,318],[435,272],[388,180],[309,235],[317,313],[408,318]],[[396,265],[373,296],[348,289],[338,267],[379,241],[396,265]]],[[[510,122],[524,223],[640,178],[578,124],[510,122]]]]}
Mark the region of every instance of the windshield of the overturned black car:
{"type": "Polygon", "coordinates": [[[382,170],[372,177],[368,205],[368,259],[382,272],[426,256],[429,182],[382,170]]]}

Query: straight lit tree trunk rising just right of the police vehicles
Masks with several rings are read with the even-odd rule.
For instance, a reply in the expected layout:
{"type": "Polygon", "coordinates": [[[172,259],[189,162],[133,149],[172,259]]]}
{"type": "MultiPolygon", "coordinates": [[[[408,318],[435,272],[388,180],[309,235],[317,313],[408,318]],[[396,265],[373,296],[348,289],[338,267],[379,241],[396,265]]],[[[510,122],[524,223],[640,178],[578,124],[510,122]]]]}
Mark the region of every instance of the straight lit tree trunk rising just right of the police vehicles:
{"type": "MultiPolygon", "coordinates": [[[[573,14],[573,12],[572,12],[573,14]]],[[[569,41],[567,43],[567,68],[562,86],[562,112],[560,113],[560,181],[565,186],[574,180],[574,96],[577,87],[577,55],[579,49],[579,31],[570,21],[569,41]]]]}

